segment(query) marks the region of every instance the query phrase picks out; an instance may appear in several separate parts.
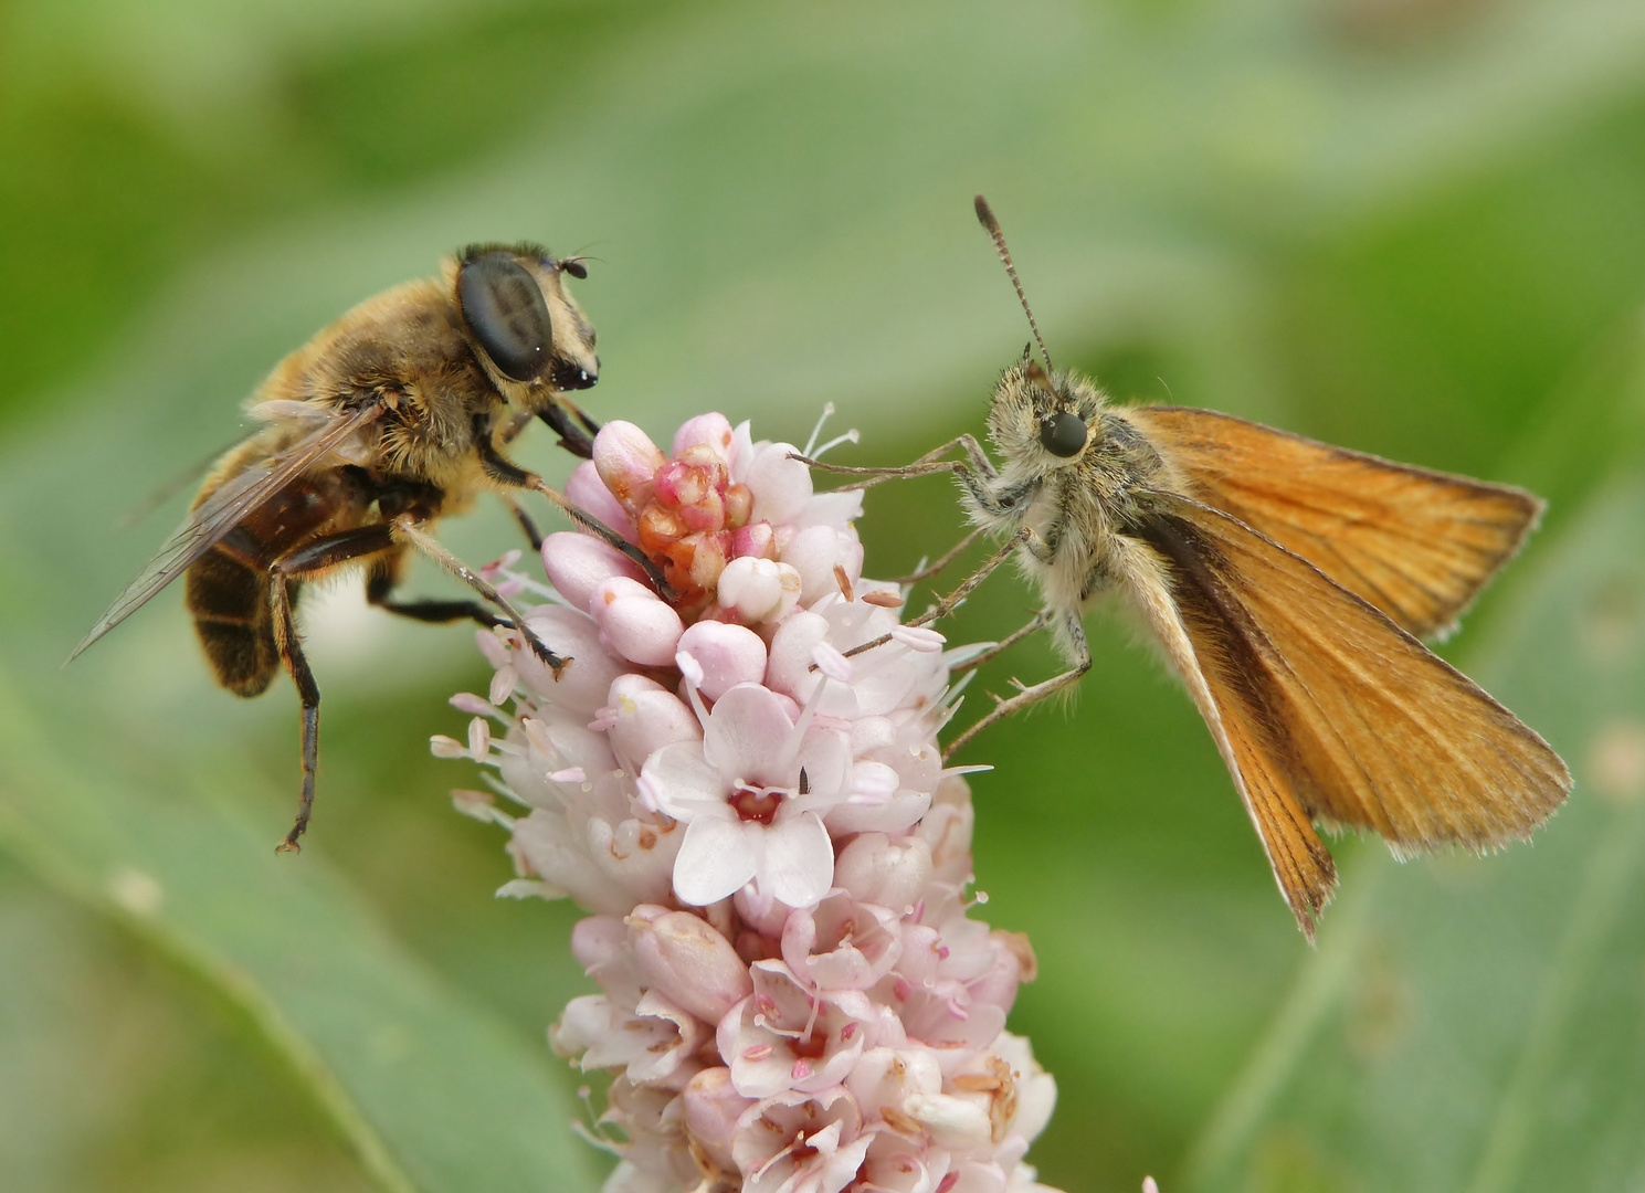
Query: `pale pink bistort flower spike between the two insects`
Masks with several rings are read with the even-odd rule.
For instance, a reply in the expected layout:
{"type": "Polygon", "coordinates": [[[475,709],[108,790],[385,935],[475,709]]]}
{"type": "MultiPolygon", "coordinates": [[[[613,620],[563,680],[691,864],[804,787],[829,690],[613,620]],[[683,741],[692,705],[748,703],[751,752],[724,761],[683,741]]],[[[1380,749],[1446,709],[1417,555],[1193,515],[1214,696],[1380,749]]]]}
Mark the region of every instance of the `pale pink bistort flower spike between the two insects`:
{"type": "Polygon", "coordinates": [[[941,635],[862,578],[860,492],[816,494],[785,443],[693,418],[665,454],[607,425],[568,494],[666,579],[549,535],[467,742],[457,793],[508,829],[510,895],[571,897],[599,994],[553,1047],[610,1075],[591,1132],[607,1193],[1005,1193],[1056,1086],[1005,1032],[1033,953],[969,912],[971,795],[943,767],[941,635]],[[859,655],[854,647],[890,635],[859,655]],[[615,1130],[612,1130],[615,1129],[615,1130]]]}

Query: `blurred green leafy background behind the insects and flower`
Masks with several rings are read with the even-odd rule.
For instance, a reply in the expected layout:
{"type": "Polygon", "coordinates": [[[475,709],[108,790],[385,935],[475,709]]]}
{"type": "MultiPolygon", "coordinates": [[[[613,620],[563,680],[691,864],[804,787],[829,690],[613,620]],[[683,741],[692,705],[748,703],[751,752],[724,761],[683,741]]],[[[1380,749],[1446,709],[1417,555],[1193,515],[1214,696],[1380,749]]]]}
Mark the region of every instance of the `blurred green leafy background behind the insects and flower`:
{"type": "MultiPolygon", "coordinates": [[[[1553,499],[1446,653],[1571,760],[1535,846],[1337,846],[1309,949],[1189,701],[1110,619],[1071,711],[984,736],[977,874],[1064,1190],[1645,1188],[1645,7],[1638,0],[0,3],[0,1188],[592,1190],[544,1024],[564,905],[428,755],[462,627],[306,610],[240,703],[176,592],[67,671],[352,303],[456,245],[592,258],[602,418],[900,462],[1059,364],[1553,499]]],[[[564,474],[541,428],[521,456],[564,474]]],[[[959,533],[877,490],[870,574],[959,533]]],[[[494,508],[443,532],[513,545],[494,508]]],[[[421,573],[421,591],[443,591],[421,573]]],[[[1031,607],[985,586],[951,640],[1031,607]]],[[[1048,673],[1025,645],[987,673],[1048,673]]]]}

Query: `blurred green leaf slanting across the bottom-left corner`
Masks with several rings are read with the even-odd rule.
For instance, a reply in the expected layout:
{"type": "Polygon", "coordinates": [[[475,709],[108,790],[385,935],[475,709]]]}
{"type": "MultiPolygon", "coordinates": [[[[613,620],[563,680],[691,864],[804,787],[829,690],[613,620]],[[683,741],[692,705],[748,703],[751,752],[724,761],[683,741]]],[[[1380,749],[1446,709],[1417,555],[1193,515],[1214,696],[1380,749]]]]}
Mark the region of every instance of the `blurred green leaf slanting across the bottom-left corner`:
{"type": "Polygon", "coordinates": [[[0,676],[0,843],[240,1004],[388,1190],[592,1188],[541,1045],[434,979],[319,857],[133,790],[0,676]]]}

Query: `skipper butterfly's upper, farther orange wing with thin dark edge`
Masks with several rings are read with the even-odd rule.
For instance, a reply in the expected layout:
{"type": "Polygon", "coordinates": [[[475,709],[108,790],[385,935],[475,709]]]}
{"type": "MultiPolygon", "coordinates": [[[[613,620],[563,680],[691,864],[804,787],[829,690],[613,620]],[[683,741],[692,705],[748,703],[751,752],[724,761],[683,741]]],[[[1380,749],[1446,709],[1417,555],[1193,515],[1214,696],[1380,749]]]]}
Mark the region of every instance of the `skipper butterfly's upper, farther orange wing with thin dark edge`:
{"type": "Polygon", "coordinates": [[[1124,413],[1184,474],[1189,497],[1303,556],[1418,637],[1448,632],[1541,513],[1522,489],[1393,464],[1232,415],[1124,413]]]}

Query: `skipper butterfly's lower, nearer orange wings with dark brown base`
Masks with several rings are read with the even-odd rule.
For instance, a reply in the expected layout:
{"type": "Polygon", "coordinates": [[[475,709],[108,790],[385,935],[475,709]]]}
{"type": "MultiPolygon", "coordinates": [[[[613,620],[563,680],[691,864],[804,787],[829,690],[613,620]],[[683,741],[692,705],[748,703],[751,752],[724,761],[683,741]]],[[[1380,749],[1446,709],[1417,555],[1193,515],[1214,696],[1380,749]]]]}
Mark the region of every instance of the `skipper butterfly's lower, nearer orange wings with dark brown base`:
{"type": "MultiPolygon", "coordinates": [[[[1145,494],[1133,592],[1222,749],[1311,935],[1334,870],[1309,821],[1397,854],[1522,839],[1571,777],[1518,717],[1367,601],[1240,520],[1145,494]]],[[[1135,550],[1135,548],[1133,548],[1135,550]]]]}

